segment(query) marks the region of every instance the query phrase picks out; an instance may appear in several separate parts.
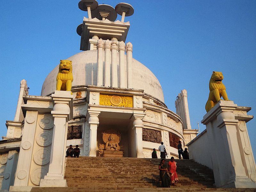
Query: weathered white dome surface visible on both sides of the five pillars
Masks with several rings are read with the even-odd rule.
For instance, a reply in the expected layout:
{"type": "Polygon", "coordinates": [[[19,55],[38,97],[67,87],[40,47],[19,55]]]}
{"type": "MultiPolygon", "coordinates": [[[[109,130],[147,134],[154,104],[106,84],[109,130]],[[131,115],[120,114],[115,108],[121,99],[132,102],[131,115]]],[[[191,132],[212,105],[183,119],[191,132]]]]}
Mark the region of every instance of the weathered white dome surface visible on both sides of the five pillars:
{"type": "MultiPolygon", "coordinates": [[[[68,60],[72,61],[74,80],[72,86],[97,85],[97,50],[79,52],[68,60]]],[[[56,90],[57,65],[45,78],[41,96],[51,94],[56,90]]],[[[162,87],[156,76],[142,63],[132,60],[132,87],[142,89],[145,93],[164,102],[162,87]]]]}

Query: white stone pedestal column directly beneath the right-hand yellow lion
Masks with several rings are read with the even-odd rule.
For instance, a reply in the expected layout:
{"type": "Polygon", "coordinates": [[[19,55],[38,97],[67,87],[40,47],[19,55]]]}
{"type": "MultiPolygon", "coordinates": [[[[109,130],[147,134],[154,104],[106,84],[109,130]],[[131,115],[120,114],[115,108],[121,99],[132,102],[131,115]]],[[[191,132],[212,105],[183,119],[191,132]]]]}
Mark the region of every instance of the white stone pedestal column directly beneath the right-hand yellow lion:
{"type": "MultiPolygon", "coordinates": [[[[205,116],[215,185],[219,188],[256,188],[256,170],[250,140],[241,136],[233,101],[221,100],[205,116]],[[242,147],[243,143],[248,146],[242,147]],[[247,158],[247,156],[252,158],[247,158]],[[245,159],[254,166],[248,166],[245,159]]],[[[246,128],[246,127],[245,127],[246,128]]],[[[243,130],[245,129],[243,127],[243,130]]],[[[243,133],[242,133],[243,134],[243,133]]]]}

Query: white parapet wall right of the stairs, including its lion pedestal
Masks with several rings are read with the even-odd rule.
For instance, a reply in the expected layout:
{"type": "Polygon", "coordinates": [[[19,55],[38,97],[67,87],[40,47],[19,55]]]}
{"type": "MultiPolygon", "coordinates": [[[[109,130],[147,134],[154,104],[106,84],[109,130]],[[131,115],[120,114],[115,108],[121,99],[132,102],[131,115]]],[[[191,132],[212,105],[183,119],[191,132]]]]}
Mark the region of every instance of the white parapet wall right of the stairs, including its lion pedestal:
{"type": "Polygon", "coordinates": [[[207,132],[188,143],[190,157],[211,168],[218,188],[256,188],[256,166],[246,123],[249,107],[219,101],[201,123],[207,132]]]}

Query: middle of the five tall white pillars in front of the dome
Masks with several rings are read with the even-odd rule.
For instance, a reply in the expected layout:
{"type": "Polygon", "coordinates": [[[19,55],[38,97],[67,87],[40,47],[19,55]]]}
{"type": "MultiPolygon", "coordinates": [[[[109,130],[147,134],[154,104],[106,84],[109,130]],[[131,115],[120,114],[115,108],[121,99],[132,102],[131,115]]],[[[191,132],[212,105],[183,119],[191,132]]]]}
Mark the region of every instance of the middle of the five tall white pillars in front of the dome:
{"type": "Polygon", "coordinates": [[[116,38],[111,39],[111,64],[112,64],[112,87],[118,87],[118,76],[117,76],[117,44],[116,38]]]}

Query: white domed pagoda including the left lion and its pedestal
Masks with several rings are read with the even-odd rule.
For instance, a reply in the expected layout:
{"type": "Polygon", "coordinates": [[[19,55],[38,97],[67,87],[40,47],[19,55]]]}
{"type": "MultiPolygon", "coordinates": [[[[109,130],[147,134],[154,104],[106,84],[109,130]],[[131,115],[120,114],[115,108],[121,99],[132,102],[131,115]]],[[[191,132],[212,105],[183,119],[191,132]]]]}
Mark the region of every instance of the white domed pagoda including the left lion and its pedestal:
{"type": "Polygon", "coordinates": [[[66,187],[69,145],[78,145],[82,157],[101,158],[151,158],[153,148],[160,157],[161,142],[168,158],[178,158],[179,140],[193,148],[198,132],[191,129],[187,91],[178,94],[176,113],[169,110],[156,76],[132,57],[132,42],[125,42],[133,7],[96,0],[81,0],[78,7],[88,12],[76,29],[82,52],[60,58],[41,96],[29,95],[26,80],[20,82],[15,118],[6,121],[0,141],[2,189],[66,187]]]}

